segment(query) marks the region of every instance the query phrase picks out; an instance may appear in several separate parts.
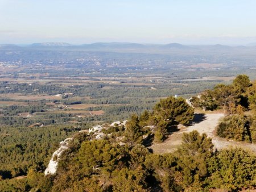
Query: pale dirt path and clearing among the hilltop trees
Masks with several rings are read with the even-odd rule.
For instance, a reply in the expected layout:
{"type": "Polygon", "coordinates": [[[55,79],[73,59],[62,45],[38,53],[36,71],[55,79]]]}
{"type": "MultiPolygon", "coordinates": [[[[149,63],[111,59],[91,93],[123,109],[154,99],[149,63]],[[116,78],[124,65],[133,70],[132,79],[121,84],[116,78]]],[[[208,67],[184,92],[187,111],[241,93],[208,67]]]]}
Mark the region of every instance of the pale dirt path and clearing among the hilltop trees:
{"type": "Polygon", "coordinates": [[[212,143],[214,144],[214,147],[217,149],[223,149],[232,146],[242,147],[256,152],[256,144],[228,141],[214,135],[214,130],[222,117],[224,117],[224,114],[222,113],[195,114],[195,118],[191,126],[179,126],[180,131],[177,131],[169,135],[168,139],[163,143],[152,144],[150,148],[154,151],[154,153],[168,153],[175,151],[177,147],[181,144],[181,137],[183,135],[183,132],[191,132],[193,130],[197,130],[199,133],[207,133],[209,137],[212,137],[212,143]]]}

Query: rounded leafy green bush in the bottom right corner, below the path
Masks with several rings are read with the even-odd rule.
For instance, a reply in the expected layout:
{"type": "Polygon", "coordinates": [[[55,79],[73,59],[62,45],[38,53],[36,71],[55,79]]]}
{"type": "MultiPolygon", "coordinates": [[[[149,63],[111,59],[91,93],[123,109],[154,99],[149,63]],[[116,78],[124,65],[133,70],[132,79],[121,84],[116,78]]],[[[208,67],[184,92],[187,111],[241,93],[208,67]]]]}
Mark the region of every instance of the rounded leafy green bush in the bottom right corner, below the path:
{"type": "Polygon", "coordinates": [[[239,148],[223,149],[210,161],[210,185],[228,191],[255,189],[255,155],[239,148]]]}

